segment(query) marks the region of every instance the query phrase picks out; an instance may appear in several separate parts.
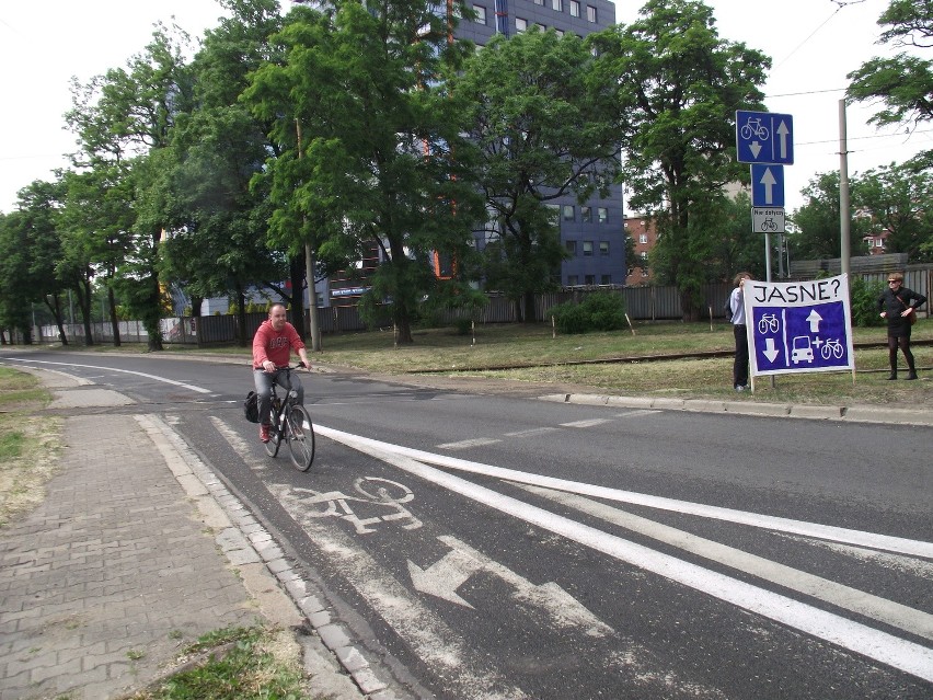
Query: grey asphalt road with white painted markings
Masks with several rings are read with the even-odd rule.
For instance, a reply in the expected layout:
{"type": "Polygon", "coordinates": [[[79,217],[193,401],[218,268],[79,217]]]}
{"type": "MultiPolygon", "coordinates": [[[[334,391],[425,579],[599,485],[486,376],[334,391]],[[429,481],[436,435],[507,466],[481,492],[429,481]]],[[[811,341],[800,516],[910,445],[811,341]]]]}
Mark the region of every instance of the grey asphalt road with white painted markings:
{"type": "Polygon", "coordinates": [[[300,473],[243,420],[246,367],[30,357],[172,425],[400,695],[933,697],[930,428],[312,374],[300,473]]]}

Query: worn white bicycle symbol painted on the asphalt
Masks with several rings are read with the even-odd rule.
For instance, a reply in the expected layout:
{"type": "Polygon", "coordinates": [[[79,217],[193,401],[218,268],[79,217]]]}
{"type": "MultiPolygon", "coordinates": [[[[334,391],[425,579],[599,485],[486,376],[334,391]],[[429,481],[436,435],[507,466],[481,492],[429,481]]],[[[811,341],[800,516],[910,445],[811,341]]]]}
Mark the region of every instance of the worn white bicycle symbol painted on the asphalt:
{"type": "Polygon", "coordinates": [[[380,523],[403,523],[402,527],[406,530],[422,527],[423,523],[402,505],[415,497],[406,485],[379,477],[362,477],[354,481],[353,487],[359,495],[313,489],[295,489],[295,492],[310,495],[310,498],[302,500],[302,503],[312,506],[308,515],[314,518],[335,517],[347,520],[354,525],[358,535],[375,532],[373,526],[380,523]],[[389,513],[369,515],[373,510],[378,513],[383,509],[389,513]],[[361,513],[358,514],[357,510],[361,513]]]}

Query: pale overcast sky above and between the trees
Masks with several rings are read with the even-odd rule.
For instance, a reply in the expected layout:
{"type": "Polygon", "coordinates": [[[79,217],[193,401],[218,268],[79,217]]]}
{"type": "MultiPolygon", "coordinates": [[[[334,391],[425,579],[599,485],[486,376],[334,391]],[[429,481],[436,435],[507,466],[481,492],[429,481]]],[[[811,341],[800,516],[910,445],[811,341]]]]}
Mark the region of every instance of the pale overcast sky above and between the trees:
{"type": "MultiPolygon", "coordinates": [[[[585,0],[584,0],[585,3],[585,0]]],[[[636,19],[641,1],[615,0],[617,22],[636,19]]],[[[770,112],[794,117],[795,162],[785,167],[787,210],[816,173],[839,169],[839,100],[845,74],[890,48],[875,45],[878,15],[888,0],[707,0],[719,36],[771,56],[764,92],[770,112]]],[[[151,37],[157,21],[175,23],[193,37],[216,26],[215,0],[46,0],[0,4],[0,210],[34,180],[53,180],[67,165],[73,136],[62,130],[71,106],[69,79],[87,82],[123,67],[151,37]]],[[[848,108],[849,172],[902,162],[933,148],[933,125],[907,135],[866,124],[872,110],[848,108]]]]}

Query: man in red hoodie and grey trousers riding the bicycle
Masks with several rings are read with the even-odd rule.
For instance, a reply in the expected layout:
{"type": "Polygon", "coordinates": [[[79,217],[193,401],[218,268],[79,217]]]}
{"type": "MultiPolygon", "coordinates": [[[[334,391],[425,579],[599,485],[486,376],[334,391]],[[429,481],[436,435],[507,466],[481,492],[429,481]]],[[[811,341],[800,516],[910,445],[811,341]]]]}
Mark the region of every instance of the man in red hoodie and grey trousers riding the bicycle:
{"type": "MultiPolygon", "coordinates": [[[[298,331],[286,320],[285,305],[269,307],[269,318],[263,321],[253,336],[253,380],[256,383],[256,397],[260,409],[260,439],[269,441],[269,411],[272,409],[273,382],[278,383],[279,374],[288,367],[291,349],[301,357],[301,364],[311,369],[311,362],[304,352],[304,342],[298,331]]],[[[298,392],[299,403],[304,400],[304,387],[295,376],[289,377],[291,389],[298,392]]]]}

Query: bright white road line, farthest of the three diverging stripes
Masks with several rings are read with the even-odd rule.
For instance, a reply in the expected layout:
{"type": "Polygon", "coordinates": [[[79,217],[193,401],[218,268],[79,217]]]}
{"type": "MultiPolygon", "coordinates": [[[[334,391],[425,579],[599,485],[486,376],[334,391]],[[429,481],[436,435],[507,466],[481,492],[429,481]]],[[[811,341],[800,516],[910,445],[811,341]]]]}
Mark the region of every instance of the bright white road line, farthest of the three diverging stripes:
{"type": "Polygon", "coordinates": [[[861,530],[851,530],[849,528],[833,527],[831,525],[820,525],[819,523],[792,520],[791,518],[762,515],[760,513],[734,510],[732,508],[704,505],[702,503],[665,498],[664,496],[652,496],[634,491],[622,491],[619,489],[609,489],[607,486],[597,486],[594,484],[581,483],[579,481],[542,477],[540,474],[517,471],[515,469],[505,469],[503,467],[493,467],[492,464],[472,462],[458,457],[450,457],[449,455],[436,455],[434,452],[403,447],[401,445],[370,440],[369,438],[358,437],[323,425],[319,426],[315,424],[314,429],[321,435],[331,437],[337,441],[343,441],[342,436],[356,440],[365,440],[367,444],[379,449],[393,451],[398,455],[404,455],[427,464],[437,464],[438,467],[446,467],[448,469],[456,469],[458,471],[465,471],[473,474],[505,479],[506,481],[514,481],[535,486],[544,486],[546,489],[555,489],[556,491],[566,491],[568,493],[578,493],[584,496],[594,496],[606,501],[617,501],[620,503],[647,506],[649,508],[658,508],[660,510],[671,510],[675,513],[682,513],[684,515],[712,518],[714,520],[725,520],[727,523],[736,523],[738,525],[747,525],[749,527],[774,530],[778,532],[804,535],[806,537],[815,537],[821,540],[842,542],[844,544],[855,544],[857,547],[868,547],[888,552],[899,552],[901,554],[910,554],[912,556],[933,559],[933,542],[910,540],[907,538],[877,535],[874,532],[863,532],[861,530]]]}

